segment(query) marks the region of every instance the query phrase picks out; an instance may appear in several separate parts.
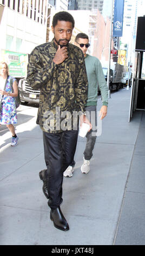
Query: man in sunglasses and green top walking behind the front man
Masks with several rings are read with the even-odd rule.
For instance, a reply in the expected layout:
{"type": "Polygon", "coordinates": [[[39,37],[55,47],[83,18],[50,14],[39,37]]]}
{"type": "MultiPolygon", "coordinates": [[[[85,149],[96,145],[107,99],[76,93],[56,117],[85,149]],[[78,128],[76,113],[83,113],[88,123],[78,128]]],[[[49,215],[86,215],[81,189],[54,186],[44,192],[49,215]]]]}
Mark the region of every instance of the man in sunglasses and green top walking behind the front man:
{"type": "MultiPolygon", "coordinates": [[[[102,96],[102,107],[100,109],[100,118],[103,119],[107,115],[108,106],[108,87],[106,80],[104,78],[102,65],[100,60],[96,57],[87,54],[89,44],[88,35],[84,33],[79,33],[75,38],[76,45],[81,48],[84,58],[85,58],[85,68],[87,70],[88,76],[88,100],[87,105],[85,105],[85,110],[87,112],[87,117],[90,119],[92,124],[92,129],[87,133],[87,143],[85,145],[83,164],[81,166],[81,172],[87,174],[90,170],[90,159],[93,156],[93,149],[96,142],[96,106],[97,106],[97,94],[98,86],[101,90],[102,96]],[[92,114],[94,112],[94,115],[92,114]],[[91,118],[92,117],[92,118],[91,118]],[[94,132],[95,131],[95,132],[94,132]],[[95,135],[95,136],[94,136],[95,135]]],[[[73,176],[75,161],[70,164],[70,166],[65,170],[63,175],[65,177],[73,176]]]]}

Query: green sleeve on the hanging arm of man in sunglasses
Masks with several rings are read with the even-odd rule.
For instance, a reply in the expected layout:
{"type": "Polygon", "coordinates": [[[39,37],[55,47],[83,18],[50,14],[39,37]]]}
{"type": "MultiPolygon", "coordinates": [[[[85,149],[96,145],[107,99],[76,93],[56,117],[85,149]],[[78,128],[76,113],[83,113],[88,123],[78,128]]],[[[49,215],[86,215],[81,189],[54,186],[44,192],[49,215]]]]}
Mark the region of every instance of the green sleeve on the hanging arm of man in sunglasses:
{"type": "Polygon", "coordinates": [[[96,62],[96,76],[97,76],[97,83],[101,90],[102,96],[102,105],[108,106],[108,87],[107,82],[104,78],[102,65],[99,59],[96,62]]]}

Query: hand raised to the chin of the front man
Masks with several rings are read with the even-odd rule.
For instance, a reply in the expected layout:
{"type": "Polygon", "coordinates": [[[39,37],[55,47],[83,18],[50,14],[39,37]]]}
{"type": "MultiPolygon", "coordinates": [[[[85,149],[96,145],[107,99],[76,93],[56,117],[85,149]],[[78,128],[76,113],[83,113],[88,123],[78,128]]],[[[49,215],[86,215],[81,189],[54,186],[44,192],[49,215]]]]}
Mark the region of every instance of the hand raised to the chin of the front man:
{"type": "Polygon", "coordinates": [[[67,47],[64,46],[61,48],[60,45],[58,45],[58,49],[57,52],[55,54],[55,57],[53,59],[53,62],[55,64],[61,64],[62,62],[64,62],[65,59],[68,58],[68,50],[67,47]]]}

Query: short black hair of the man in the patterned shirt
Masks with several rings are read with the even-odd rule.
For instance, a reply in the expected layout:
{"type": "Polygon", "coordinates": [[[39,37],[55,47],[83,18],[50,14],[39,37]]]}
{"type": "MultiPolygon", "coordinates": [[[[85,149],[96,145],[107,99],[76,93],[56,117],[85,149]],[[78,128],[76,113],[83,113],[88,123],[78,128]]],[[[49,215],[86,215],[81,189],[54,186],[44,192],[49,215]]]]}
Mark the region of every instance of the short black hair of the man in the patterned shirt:
{"type": "Polygon", "coordinates": [[[56,13],[52,20],[52,26],[55,27],[57,25],[57,21],[69,21],[72,23],[72,26],[74,28],[75,21],[73,16],[68,13],[67,11],[59,11],[59,13],[56,13]]]}

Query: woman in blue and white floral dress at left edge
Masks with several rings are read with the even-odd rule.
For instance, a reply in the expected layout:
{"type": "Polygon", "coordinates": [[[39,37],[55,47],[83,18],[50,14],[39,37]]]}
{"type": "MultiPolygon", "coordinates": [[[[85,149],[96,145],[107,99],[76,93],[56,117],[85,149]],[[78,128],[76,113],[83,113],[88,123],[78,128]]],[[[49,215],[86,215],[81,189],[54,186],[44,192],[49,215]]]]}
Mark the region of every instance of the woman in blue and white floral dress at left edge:
{"type": "Polygon", "coordinates": [[[18,95],[17,81],[14,77],[9,75],[9,68],[5,62],[1,63],[0,66],[0,101],[2,101],[0,109],[0,126],[1,124],[6,125],[12,134],[11,145],[16,146],[18,143],[18,137],[15,133],[15,127],[13,124],[17,124],[17,111],[15,99],[18,95]],[[10,81],[12,80],[12,87],[14,92],[11,90],[10,81]],[[6,83],[6,87],[4,89],[6,83]]]}

